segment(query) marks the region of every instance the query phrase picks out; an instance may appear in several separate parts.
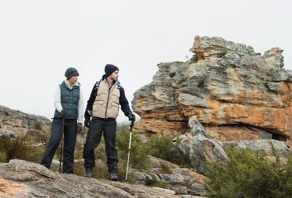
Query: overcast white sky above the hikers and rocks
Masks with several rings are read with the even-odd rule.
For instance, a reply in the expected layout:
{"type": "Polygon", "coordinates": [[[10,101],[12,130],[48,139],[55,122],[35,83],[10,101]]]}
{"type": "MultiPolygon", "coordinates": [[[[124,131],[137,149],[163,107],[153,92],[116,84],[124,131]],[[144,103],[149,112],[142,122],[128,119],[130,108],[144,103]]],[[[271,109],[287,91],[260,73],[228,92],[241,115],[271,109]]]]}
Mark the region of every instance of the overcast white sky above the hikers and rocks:
{"type": "MultiPolygon", "coordinates": [[[[194,36],[262,54],[284,49],[292,70],[290,0],[0,0],[0,105],[53,117],[56,85],[75,67],[86,107],[106,64],[131,102],[161,62],[191,57],[194,36]]],[[[117,121],[127,118],[121,112],[117,121]]]]}

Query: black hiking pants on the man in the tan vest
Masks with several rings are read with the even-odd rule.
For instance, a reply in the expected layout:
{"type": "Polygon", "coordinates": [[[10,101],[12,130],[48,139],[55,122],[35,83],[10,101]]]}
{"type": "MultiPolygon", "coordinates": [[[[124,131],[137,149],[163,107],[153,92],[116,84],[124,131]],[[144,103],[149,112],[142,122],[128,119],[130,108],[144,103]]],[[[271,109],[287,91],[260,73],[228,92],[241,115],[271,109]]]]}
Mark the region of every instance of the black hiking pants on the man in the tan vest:
{"type": "Polygon", "coordinates": [[[109,172],[113,166],[118,167],[118,153],[116,147],[116,120],[102,120],[93,117],[87,133],[86,143],[83,149],[84,166],[95,166],[94,148],[98,146],[103,132],[106,144],[107,165],[109,172]]]}

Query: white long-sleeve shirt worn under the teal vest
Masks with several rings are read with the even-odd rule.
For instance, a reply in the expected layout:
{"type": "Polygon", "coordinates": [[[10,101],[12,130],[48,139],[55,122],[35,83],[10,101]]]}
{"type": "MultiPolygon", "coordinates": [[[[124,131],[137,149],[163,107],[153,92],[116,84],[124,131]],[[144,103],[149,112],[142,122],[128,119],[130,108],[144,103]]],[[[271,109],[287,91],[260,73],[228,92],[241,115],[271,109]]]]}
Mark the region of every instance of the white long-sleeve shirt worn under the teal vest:
{"type": "MultiPolygon", "coordinates": [[[[84,101],[83,101],[83,93],[81,90],[81,84],[80,82],[76,82],[72,86],[70,86],[69,82],[65,80],[65,84],[72,89],[73,86],[79,86],[80,92],[79,92],[79,101],[78,101],[78,123],[82,123],[83,120],[83,108],[84,108],[84,101]]],[[[58,85],[55,90],[55,97],[54,97],[54,104],[55,108],[57,109],[58,112],[61,113],[61,110],[63,109],[62,104],[61,104],[61,89],[60,86],[58,85]]]]}

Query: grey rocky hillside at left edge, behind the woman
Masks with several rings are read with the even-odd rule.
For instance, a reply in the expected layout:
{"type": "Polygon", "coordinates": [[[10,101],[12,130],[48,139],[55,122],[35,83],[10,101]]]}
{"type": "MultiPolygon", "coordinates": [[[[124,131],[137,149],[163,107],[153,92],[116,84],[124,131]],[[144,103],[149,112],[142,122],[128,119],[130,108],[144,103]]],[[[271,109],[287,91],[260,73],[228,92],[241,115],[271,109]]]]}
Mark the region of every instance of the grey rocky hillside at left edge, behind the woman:
{"type": "Polygon", "coordinates": [[[0,105],[0,127],[18,136],[27,133],[42,135],[51,130],[51,124],[51,120],[44,116],[26,114],[0,105]]]}

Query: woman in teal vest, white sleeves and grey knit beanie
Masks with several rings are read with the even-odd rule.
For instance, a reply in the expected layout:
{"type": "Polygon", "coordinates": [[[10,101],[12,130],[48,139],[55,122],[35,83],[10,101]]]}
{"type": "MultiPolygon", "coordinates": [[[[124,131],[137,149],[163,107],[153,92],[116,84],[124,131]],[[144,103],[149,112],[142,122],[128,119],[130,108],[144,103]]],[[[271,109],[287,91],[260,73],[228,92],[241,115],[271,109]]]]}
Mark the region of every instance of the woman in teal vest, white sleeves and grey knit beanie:
{"type": "Polygon", "coordinates": [[[70,67],[65,72],[66,80],[56,87],[54,99],[56,109],[52,122],[51,137],[40,162],[41,165],[50,169],[55,151],[61,141],[64,118],[63,173],[73,173],[77,133],[82,131],[84,103],[81,84],[77,82],[78,76],[78,71],[70,67]]]}

